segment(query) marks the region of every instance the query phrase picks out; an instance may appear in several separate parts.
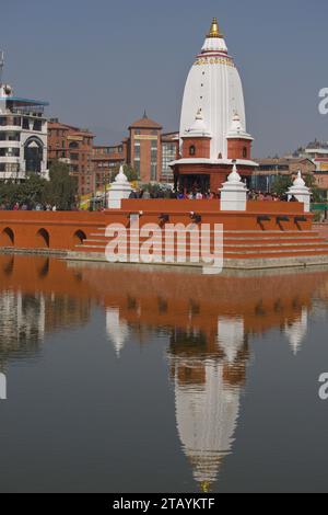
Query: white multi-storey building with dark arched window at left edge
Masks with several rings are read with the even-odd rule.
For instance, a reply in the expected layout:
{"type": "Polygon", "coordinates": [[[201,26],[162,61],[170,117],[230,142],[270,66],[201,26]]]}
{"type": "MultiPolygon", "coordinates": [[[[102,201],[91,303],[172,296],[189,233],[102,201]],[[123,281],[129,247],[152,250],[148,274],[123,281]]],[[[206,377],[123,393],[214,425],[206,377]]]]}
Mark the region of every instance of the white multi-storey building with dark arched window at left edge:
{"type": "MultiPolygon", "coordinates": [[[[3,54],[0,56],[0,72],[3,54]]],[[[0,79],[0,180],[24,181],[30,172],[47,179],[47,102],[15,96],[0,79]]]]}

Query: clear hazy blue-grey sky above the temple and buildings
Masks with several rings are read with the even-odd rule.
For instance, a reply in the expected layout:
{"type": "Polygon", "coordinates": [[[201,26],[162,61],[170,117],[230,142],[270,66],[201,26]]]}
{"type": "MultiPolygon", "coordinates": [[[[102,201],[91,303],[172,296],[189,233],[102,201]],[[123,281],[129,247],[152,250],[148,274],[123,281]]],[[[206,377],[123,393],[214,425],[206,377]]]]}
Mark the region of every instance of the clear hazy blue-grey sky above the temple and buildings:
{"type": "Polygon", "coordinates": [[[178,127],[185,79],[212,16],[244,83],[255,154],[328,140],[327,0],[1,1],[5,80],[49,114],[115,142],[142,115],[178,127]]]}

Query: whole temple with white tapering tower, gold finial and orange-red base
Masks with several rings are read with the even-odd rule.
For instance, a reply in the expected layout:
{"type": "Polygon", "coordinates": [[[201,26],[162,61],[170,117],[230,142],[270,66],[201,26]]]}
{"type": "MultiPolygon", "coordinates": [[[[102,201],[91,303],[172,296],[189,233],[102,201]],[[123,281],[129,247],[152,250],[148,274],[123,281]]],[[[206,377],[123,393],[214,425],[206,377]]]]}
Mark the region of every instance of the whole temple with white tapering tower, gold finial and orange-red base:
{"type": "Polygon", "coordinates": [[[256,167],[241,77],[215,18],[187,78],[179,137],[180,159],[172,163],[176,178],[198,175],[203,184],[207,174],[211,187],[219,187],[233,161],[244,176],[256,167]],[[196,125],[202,130],[195,131],[196,125]]]}

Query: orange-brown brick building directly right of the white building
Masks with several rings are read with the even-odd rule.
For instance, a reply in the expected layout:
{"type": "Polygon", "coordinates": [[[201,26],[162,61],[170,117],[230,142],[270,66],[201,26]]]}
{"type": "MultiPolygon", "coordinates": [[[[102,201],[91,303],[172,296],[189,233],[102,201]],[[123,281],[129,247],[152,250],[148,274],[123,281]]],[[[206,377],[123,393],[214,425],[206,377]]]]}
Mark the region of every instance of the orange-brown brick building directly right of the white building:
{"type": "Polygon", "coordinates": [[[57,118],[48,124],[49,167],[54,161],[67,163],[77,178],[80,195],[95,192],[93,138],[90,130],[61,124],[57,118]]]}

